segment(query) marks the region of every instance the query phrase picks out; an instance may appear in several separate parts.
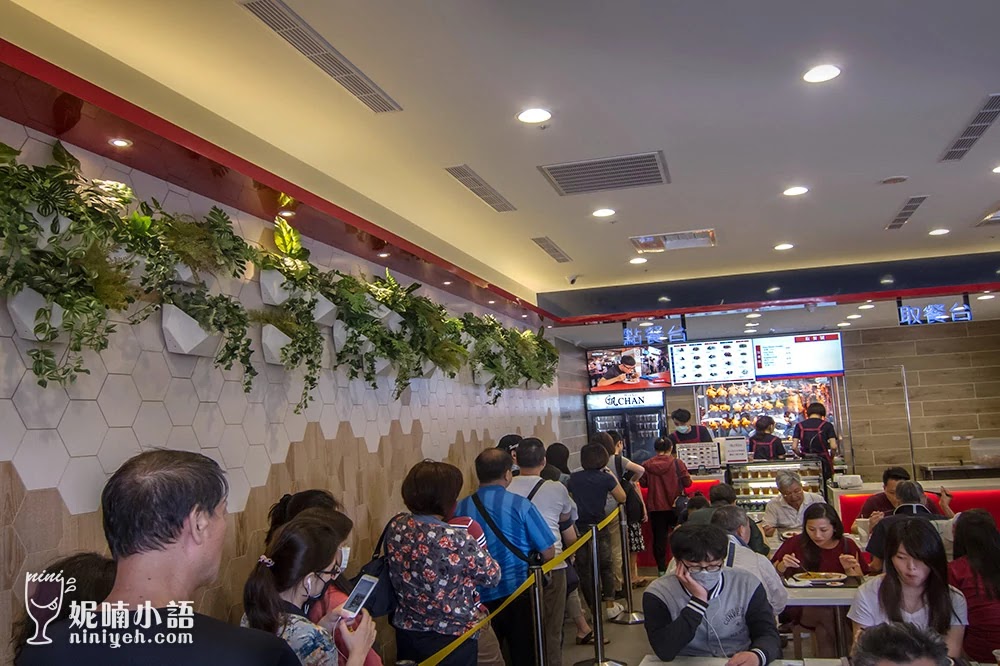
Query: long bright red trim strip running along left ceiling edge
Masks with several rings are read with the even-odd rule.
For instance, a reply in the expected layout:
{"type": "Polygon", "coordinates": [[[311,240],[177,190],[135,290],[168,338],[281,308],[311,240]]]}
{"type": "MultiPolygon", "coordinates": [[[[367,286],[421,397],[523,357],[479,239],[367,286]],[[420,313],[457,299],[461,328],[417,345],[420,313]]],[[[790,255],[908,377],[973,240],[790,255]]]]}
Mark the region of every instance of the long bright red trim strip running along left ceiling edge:
{"type": "Polygon", "coordinates": [[[342,208],[335,203],[327,201],[326,199],[313,194],[295,183],[289,182],[284,178],[257,166],[253,162],[243,159],[242,157],[235,155],[228,150],[225,150],[224,148],[221,148],[214,143],[193,134],[192,132],[189,132],[183,127],[175,125],[174,123],[165,120],[164,118],[161,118],[160,116],[151,113],[150,111],[147,111],[146,109],[143,109],[142,107],[137,106],[132,102],[115,95],[114,93],[108,92],[100,86],[82,79],[79,76],[3,39],[0,39],[0,62],[10,65],[11,67],[18,69],[29,76],[33,76],[36,79],[44,81],[45,83],[59,88],[64,92],[79,97],[85,102],[98,106],[109,113],[113,113],[129,122],[135,123],[136,125],[154,132],[163,138],[176,143],[177,145],[183,146],[184,148],[192,150],[210,160],[214,160],[219,164],[238,171],[245,176],[267,185],[268,187],[285,192],[308,206],[331,215],[339,219],[341,222],[355,226],[362,231],[365,231],[395,247],[400,248],[401,250],[420,257],[424,261],[436,264],[444,268],[447,272],[460,277],[473,285],[487,289],[497,296],[522,308],[531,310],[541,317],[553,320],[555,319],[555,317],[548,312],[531,303],[522,301],[518,296],[515,296],[507,290],[486,280],[483,280],[464,268],[452,264],[433,252],[425,250],[405,238],[383,229],[360,215],[352,213],[346,208],[342,208]]]}

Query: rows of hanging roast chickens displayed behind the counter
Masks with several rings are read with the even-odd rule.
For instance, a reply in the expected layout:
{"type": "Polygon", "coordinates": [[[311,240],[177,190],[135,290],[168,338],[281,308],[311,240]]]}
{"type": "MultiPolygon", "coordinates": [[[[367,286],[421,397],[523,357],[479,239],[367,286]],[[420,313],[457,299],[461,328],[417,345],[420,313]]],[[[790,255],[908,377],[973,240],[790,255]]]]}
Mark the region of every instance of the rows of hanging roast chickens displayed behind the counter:
{"type": "Polygon", "coordinates": [[[698,418],[714,437],[752,435],[757,417],[767,415],[774,419],[774,434],[789,438],[810,403],[823,403],[832,422],[836,395],[830,377],[708,384],[695,390],[698,418]]]}

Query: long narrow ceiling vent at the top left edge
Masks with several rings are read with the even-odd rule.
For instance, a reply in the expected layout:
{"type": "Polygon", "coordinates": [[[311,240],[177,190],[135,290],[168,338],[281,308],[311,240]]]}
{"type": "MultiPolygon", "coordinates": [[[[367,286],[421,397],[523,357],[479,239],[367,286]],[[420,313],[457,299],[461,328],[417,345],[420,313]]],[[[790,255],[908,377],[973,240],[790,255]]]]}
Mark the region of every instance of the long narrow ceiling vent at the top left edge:
{"type": "Polygon", "coordinates": [[[375,113],[403,110],[281,0],[237,1],[375,113]]]}

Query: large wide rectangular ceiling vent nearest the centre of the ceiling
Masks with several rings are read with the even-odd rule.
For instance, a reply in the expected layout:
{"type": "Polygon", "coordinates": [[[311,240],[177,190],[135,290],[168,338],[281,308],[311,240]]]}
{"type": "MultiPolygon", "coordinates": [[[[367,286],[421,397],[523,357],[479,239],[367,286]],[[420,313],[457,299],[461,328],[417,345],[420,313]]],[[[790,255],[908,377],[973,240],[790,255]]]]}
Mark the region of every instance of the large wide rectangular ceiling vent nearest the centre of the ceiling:
{"type": "Polygon", "coordinates": [[[670,182],[662,151],[549,164],[538,169],[560,196],[670,182]]]}

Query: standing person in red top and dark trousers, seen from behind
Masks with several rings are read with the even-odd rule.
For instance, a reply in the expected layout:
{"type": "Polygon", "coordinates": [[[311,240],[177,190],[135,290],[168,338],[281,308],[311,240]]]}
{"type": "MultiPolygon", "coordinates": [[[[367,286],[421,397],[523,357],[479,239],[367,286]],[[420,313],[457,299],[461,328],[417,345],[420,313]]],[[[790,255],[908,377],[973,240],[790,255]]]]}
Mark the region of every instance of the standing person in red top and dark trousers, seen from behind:
{"type": "Polygon", "coordinates": [[[646,473],[639,479],[639,483],[649,489],[646,495],[646,513],[653,532],[656,569],[662,576],[667,571],[667,537],[670,535],[670,528],[677,524],[674,500],[684,494],[684,489],[692,481],[687,465],[674,457],[674,443],[670,438],[660,437],[653,448],[656,449],[656,455],[642,464],[646,473]]]}

